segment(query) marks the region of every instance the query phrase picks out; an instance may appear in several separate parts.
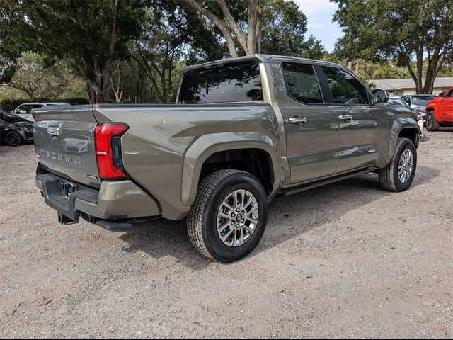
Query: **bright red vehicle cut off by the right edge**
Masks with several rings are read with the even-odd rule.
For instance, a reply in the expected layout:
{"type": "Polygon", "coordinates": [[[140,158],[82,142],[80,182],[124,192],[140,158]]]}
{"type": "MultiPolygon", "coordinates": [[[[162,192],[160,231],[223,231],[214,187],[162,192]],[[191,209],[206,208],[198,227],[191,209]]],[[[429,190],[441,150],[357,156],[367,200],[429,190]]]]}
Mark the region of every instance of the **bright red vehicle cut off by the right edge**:
{"type": "Polygon", "coordinates": [[[426,130],[437,131],[441,126],[453,125],[453,87],[439,94],[426,106],[426,130]]]}

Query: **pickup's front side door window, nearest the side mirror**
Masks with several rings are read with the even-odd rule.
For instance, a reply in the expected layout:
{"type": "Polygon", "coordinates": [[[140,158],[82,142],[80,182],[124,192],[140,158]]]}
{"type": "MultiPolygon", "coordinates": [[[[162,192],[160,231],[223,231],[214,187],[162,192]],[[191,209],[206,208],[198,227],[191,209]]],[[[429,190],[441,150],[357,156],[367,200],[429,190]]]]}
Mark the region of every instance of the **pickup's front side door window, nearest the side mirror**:
{"type": "Polygon", "coordinates": [[[331,89],[333,103],[336,104],[368,104],[365,86],[352,74],[336,67],[323,66],[328,86],[331,89]]]}

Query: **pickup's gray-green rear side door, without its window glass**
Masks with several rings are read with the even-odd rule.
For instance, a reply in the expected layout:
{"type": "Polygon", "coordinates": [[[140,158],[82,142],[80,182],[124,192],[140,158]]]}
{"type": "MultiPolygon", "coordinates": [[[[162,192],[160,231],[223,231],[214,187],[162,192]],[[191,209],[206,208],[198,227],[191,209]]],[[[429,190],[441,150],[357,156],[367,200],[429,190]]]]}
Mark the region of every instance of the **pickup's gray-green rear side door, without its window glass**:
{"type": "MultiPolygon", "coordinates": [[[[297,64],[292,65],[297,68],[297,64]]],[[[307,65],[299,64],[299,66],[306,67],[307,65]]],[[[311,67],[309,65],[309,68],[311,67]]],[[[292,71],[297,72],[297,69],[292,71]]],[[[338,166],[336,112],[330,106],[323,104],[321,92],[316,88],[317,80],[314,73],[309,75],[309,80],[293,78],[286,83],[287,78],[284,77],[284,72],[283,66],[273,65],[274,81],[276,87],[280,87],[280,91],[277,91],[277,100],[285,121],[287,160],[290,169],[289,183],[297,184],[331,175],[338,166]],[[299,96],[298,100],[289,96],[289,87],[297,91],[299,87],[308,86],[307,81],[314,86],[314,89],[311,90],[316,91],[318,103],[302,103],[302,100],[316,101],[314,98],[307,99],[299,96]],[[305,123],[290,123],[292,118],[304,118],[305,123]]],[[[300,91],[303,92],[304,89],[300,91]]],[[[304,94],[311,96],[312,94],[308,92],[305,91],[304,94]]]]}

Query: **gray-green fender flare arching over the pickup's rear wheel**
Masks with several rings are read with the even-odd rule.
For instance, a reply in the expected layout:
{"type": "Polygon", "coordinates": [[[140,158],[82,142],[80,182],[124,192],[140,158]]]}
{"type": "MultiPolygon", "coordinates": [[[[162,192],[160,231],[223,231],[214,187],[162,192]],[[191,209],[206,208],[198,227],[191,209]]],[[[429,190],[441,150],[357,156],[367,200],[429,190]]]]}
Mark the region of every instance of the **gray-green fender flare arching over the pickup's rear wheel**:
{"type": "Polygon", "coordinates": [[[262,149],[270,155],[275,179],[273,191],[270,193],[270,196],[273,196],[281,183],[277,140],[261,132],[219,132],[201,136],[184,154],[181,192],[183,205],[188,207],[195,200],[201,169],[206,159],[216,152],[233,149],[262,149]]]}

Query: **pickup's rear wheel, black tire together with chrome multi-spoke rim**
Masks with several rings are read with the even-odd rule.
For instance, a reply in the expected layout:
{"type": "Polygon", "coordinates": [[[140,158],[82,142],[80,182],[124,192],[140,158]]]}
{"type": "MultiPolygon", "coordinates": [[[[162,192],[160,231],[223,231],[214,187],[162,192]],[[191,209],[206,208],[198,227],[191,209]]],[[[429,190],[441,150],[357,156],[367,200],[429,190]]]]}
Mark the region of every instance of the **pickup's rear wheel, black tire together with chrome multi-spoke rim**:
{"type": "Polygon", "coordinates": [[[210,259],[232,262],[260,242],[268,220],[261,183],[245,171],[216,171],[202,181],[187,218],[190,241],[210,259]]]}

